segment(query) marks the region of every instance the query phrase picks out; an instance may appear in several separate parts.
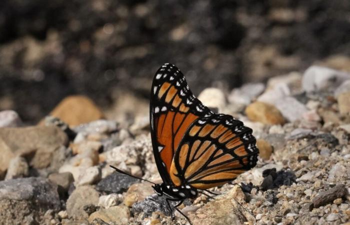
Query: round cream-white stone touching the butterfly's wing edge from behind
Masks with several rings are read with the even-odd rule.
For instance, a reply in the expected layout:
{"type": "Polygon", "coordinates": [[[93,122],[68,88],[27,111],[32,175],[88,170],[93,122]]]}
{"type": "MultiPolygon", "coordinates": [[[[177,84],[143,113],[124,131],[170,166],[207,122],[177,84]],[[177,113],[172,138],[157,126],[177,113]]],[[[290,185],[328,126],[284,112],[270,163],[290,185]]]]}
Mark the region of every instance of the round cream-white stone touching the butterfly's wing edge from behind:
{"type": "Polygon", "coordinates": [[[217,108],[219,112],[226,105],[225,94],[215,87],[205,88],[198,95],[198,99],[207,107],[217,108]]]}

